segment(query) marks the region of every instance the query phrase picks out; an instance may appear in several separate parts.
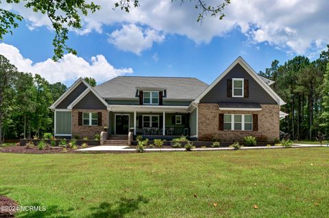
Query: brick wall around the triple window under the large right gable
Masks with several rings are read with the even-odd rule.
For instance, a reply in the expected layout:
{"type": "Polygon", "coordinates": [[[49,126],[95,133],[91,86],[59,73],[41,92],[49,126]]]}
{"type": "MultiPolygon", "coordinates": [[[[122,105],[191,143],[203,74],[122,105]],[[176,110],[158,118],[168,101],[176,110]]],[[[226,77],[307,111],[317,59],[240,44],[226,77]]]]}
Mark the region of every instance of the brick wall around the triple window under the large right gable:
{"type": "Polygon", "coordinates": [[[198,105],[198,139],[232,142],[242,141],[243,137],[253,135],[267,141],[280,136],[279,105],[261,105],[261,111],[223,111],[217,104],[200,103],[198,105]],[[219,113],[258,114],[258,131],[219,131],[219,113]]]}

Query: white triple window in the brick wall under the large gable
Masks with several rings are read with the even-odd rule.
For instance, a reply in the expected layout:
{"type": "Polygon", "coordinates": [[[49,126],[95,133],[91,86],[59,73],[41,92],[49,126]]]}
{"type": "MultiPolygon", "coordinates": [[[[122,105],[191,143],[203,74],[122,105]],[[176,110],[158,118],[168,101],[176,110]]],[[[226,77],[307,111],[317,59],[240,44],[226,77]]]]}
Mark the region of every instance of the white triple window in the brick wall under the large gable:
{"type": "Polygon", "coordinates": [[[225,131],[252,131],[251,114],[224,114],[225,131]]]}

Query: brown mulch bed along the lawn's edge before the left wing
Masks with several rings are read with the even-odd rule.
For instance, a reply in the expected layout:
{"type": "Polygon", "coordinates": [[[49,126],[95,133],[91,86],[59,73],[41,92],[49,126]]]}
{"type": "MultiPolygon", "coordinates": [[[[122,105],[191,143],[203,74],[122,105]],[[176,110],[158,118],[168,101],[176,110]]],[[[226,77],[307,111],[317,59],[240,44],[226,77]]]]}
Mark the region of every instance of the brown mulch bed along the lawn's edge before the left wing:
{"type": "MultiPolygon", "coordinates": [[[[82,148],[77,146],[77,149],[82,148]]],[[[38,146],[27,149],[27,146],[4,146],[0,147],[0,152],[3,153],[17,153],[17,154],[63,154],[63,153],[78,153],[72,148],[66,148],[66,152],[63,151],[62,147],[50,147],[44,150],[38,150],[38,146]]]]}

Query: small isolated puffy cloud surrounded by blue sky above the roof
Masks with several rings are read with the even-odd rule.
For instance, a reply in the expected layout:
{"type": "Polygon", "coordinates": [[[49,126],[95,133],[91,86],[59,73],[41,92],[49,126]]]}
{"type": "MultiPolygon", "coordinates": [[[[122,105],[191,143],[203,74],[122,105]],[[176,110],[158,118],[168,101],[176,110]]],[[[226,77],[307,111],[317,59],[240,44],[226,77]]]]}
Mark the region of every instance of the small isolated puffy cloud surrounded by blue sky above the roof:
{"type": "Polygon", "coordinates": [[[122,29],[113,31],[108,42],[123,51],[140,55],[141,51],[151,48],[154,42],[162,42],[164,36],[154,29],[145,29],[134,24],[123,25],[122,29]]]}

